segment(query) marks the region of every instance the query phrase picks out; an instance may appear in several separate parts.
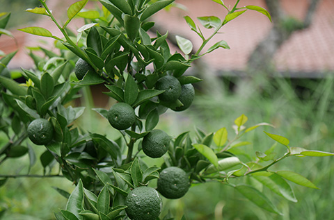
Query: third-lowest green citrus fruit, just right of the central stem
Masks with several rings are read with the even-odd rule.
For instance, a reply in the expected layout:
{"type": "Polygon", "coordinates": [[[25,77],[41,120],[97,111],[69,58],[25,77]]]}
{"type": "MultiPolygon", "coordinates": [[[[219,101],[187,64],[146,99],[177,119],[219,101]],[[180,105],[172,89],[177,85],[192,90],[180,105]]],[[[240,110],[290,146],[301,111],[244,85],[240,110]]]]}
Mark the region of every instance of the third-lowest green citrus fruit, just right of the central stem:
{"type": "Polygon", "coordinates": [[[150,158],[161,158],[168,151],[170,136],[164,130],[151,130],[143,138],[143,151],[150,158]]]}

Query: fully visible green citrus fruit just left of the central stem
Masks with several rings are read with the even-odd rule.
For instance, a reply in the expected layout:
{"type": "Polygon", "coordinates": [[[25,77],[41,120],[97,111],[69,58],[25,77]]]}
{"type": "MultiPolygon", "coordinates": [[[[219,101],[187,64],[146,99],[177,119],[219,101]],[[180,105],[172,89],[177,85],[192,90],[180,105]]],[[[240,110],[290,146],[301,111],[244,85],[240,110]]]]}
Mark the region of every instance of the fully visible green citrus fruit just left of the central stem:
{"type": "Polygon", "coordinates": [[[131,127],[134,121],[136,121],[134,108],[127,103],[116,103],[111,106],[107,117],[111,126],[118,130],[125,130],[131,127]]]}

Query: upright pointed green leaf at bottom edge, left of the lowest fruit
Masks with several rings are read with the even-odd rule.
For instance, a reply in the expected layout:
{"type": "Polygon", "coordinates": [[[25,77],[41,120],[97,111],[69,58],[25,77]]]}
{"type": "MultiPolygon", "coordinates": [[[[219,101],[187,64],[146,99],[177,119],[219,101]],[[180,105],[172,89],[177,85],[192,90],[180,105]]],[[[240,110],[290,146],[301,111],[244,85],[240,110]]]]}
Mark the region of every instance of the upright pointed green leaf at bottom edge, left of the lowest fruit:
{"type": "Polygon", "coordinates": [[[84,210],[84,186],[79,180],[77,187],[73,190],[66,204],[66,211],[72,212],[78,219],[83,219],[79,213],[84,210]]]}

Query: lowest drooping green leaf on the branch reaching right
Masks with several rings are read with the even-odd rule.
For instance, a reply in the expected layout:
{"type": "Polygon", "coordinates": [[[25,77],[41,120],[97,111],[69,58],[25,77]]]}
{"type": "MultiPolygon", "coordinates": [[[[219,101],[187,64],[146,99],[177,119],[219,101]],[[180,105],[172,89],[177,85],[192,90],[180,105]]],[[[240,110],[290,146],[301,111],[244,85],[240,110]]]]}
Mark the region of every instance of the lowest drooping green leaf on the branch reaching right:
{"type": "Polygon", "coordinates": [[[254,187],[250,185],[237,185],[234,188],[260,208],[282,215],[275,205],[269,201],[269,198],[254,187]]]}

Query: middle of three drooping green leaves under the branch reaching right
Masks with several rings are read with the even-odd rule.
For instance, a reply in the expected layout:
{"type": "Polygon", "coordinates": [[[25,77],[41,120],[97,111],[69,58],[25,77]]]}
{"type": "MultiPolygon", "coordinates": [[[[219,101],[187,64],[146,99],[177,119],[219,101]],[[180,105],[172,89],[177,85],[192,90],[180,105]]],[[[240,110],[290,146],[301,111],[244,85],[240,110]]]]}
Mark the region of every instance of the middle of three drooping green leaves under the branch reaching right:
{"type": "Polygon", "coordinates": [[[268,172],[258,172],[253,174],[253,177],[260,181],[260,183],[262,183],[264,186],[271,189],[272,192],[278,194],[278,196],[282,196],[283,198],[286,198],[287,200],[294,203],[297,202],[291,185],[289,185],[285,179],[280,177],[278,174],[262,176],[261,173],[265,173],[266,175],[268,174],[268,172]]]}

